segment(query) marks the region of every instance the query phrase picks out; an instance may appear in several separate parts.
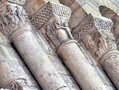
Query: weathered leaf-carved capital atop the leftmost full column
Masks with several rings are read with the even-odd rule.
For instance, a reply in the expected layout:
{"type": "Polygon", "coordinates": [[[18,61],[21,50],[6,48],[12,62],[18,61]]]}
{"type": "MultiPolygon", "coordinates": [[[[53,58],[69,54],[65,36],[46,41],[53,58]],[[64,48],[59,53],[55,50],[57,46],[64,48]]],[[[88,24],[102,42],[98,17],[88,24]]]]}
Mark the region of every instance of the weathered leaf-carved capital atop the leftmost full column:
{"type": "Polygon", "coordinates": [[[0,30],[7,37],[28,25],[26,13],[20,6],[24,2],[25,0],[8,0],[0,3],[0,30]]]}

